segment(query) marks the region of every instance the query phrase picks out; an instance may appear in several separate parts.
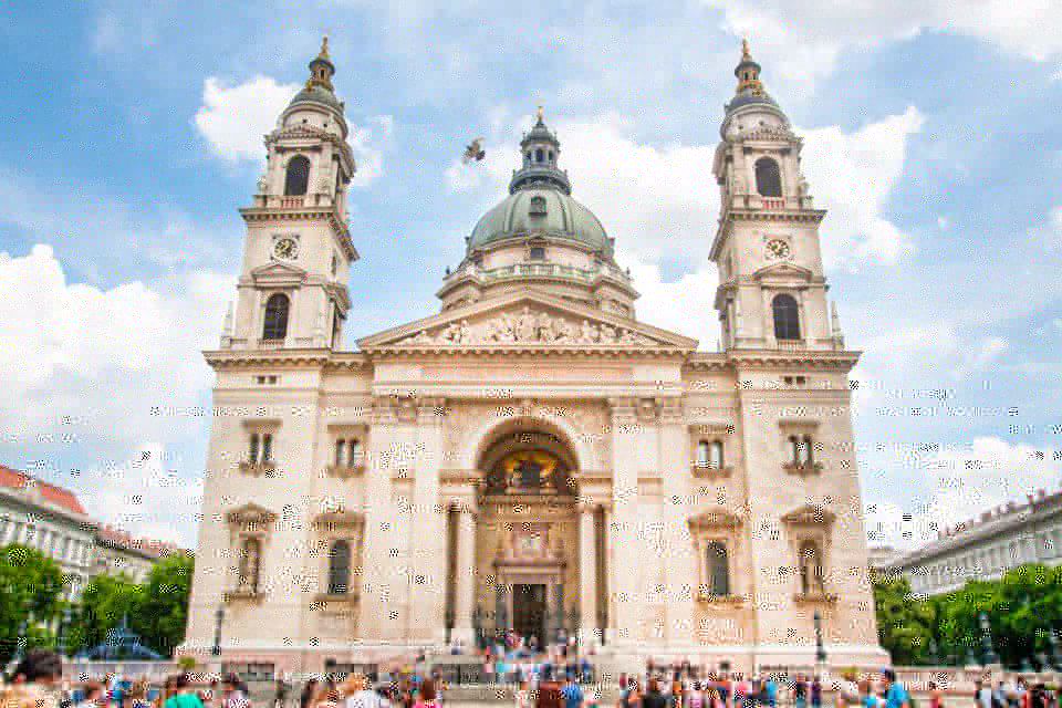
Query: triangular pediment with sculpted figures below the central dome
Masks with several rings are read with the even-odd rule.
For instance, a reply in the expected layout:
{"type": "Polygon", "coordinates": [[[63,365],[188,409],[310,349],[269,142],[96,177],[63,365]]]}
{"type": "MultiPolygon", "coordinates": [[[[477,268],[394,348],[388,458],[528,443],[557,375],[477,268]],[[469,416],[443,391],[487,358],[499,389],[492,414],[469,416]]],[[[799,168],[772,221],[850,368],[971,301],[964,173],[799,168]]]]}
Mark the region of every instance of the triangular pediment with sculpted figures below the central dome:
{"type": "Polygon", "coordinates": [[[697,341],[539,292],[455,308],[358,340],[363,351],[389,348],[669,348],[697,341]]]}

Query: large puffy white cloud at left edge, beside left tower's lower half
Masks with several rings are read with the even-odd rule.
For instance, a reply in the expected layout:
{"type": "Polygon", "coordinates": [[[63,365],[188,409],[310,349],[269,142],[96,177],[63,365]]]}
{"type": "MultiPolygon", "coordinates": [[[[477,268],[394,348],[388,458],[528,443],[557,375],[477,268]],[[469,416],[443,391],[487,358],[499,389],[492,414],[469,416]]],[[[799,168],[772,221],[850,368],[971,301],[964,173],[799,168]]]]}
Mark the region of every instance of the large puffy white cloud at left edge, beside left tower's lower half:
{"type": "Polygon", "coordinates": [[[232,279],[207,271],[149,287],[69,283],[51,247],[0,252],[0,412],[30,440],[64,417],[76,435],[121,445],[198,428],[187,413],[210,384],[200,351],[216,345],[232,279]],[[163,408],[153,414],[153,407],[163,408]]]}

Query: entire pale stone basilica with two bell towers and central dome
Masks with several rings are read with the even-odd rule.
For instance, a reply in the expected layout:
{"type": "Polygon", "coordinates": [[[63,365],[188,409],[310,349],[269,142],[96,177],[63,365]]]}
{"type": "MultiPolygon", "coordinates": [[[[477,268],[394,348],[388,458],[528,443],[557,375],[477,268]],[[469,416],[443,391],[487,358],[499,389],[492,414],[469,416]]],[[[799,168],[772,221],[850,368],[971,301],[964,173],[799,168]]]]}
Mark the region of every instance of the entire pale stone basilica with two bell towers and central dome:
{"type": "Polygon", "coordinates": [[[320,671],[514,631],[577,636],[618,670],[887,662],[860,353],[826,296],[801,138],[748,46],[711,165],[719,287],[699,316],[718,351],[638,317],[541,110],[438,310],[343,348],[356,165],[334,74],[325,44],[240,210],[180,653],[320,671]]]}

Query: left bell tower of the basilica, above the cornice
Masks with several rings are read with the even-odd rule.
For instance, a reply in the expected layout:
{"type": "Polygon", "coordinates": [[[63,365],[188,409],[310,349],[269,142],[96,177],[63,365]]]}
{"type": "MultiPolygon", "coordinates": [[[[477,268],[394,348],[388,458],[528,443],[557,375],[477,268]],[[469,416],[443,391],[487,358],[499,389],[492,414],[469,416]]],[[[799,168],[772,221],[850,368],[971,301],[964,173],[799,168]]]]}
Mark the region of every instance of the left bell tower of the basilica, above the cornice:
{"type": "Polygon", "coordinates": [[[332,87],[329,40],[310,77],[266,136],[266,170],[247,222],[243,264],[221,334],[222,348],[336,348],[357,260],[346,223],[356,169],[344,104],[332,87]]]}

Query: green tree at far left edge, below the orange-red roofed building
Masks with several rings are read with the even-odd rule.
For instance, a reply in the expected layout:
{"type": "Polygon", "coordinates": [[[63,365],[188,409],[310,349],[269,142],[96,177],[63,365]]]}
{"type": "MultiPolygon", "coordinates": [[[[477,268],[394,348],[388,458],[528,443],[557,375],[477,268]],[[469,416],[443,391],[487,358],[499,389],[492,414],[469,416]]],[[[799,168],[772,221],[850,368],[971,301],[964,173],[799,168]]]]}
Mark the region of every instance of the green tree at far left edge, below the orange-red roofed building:
{"type": "Polygon", "coordinates": [[[63,607],[63,585],[59,564],[40,551],[19,544],[0,549],[0,663],[10,660],[23,623],[28,646],[54,642],[45,625],[63,607]]]}

